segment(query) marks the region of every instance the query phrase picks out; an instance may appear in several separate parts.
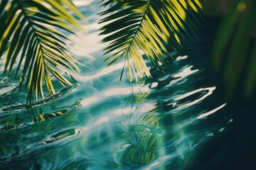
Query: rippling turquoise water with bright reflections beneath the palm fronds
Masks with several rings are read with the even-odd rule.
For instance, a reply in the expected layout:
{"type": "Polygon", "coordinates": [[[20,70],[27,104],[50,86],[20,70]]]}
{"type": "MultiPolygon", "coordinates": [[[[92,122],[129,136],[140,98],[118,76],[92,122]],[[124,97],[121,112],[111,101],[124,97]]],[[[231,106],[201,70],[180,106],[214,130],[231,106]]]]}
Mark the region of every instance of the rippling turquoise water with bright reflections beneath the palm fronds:
{"type": "Polygon", "coordinates": [[[186,169],[233,123],[210,74],[206,40],[173,52],[165,73],[151,70],[153,79],[119,81],[123,62],[103,63],[99,5],[79,2],[90,24],[88,35],[78,33],[78,50],[94,59],[80,60],[75,86],[59,86],[55,96],[26,106],[17,81],[0,81],[1,169],[186,169]]]}

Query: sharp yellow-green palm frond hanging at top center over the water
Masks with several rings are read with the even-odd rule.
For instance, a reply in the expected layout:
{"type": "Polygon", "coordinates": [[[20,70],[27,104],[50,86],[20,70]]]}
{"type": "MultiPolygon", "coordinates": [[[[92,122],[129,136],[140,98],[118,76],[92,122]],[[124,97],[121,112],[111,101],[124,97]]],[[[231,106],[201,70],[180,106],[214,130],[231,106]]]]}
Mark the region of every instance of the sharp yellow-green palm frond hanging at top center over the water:
{"type": "Polygon", "coordinates": [[[170,55],[167,47],[172,50],[181,48],[180,38],[187,33],[186,28],[193,30],[196,26],[193,13],[202,8],[198,0],[102,1],[107,10],[100,13],[105,16],[100,23],[106,24],[101,35],[107,35],[103,42],[110,42],[105,54],[114,52],[107,60],[112,60],[112,64],[124,59],[130,81],[132,73],[135,79],[137,74],[151,77],[141,50],[154,67],[160,68],[166,62],[164,54],[170,55]]]}

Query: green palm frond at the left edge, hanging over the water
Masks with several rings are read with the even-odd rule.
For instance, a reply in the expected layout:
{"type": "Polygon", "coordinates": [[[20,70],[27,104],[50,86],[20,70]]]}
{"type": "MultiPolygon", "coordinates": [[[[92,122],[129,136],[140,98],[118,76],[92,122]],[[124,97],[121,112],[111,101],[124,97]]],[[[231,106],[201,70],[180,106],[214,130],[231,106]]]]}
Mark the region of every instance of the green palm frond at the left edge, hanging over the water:
{"type": "Polygon", "coordinates": [[[28,101],[43,94],[43,80],[49,94],[55,94],[50,79],[53,75],[63,86],[72,86],[61,72],[70,76],[80,72],[75,58],[61,32],[75,34],[83,30],[71,15],[85,20],[70,0],[2,0],[0,2],[0,57],[4,57],[4,72],[11,73],[18,61],[16,77],[21,69],[20,84],[26,81],[28,101]],[[26,78],[26,76],[28,78],[26,78]]]}

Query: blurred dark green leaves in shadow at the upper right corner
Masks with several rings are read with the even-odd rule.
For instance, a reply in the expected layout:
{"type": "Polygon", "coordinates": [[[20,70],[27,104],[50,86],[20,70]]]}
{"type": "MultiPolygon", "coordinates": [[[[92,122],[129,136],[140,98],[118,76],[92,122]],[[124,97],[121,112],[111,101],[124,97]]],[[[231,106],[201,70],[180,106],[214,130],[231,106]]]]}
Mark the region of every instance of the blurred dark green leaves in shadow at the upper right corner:
{"type": "MultiPolygon", "coordinates": [[[[213,6],[213,4],[220,8],[223,6],[218,1],[209,1],[208,6],[213,6]]],[[[230,4],[230,1],[226,1],[226,4],[230,4]]],[[[220,10],[226,16],[220,23],[215,38],[213,68],[223,78],[228,98],[234,98],[238,94],[252,97],[255,94],[255,6],[256,1],[254,0],[238,0],[220,10]]]]}

